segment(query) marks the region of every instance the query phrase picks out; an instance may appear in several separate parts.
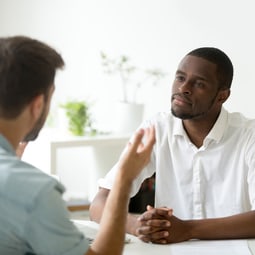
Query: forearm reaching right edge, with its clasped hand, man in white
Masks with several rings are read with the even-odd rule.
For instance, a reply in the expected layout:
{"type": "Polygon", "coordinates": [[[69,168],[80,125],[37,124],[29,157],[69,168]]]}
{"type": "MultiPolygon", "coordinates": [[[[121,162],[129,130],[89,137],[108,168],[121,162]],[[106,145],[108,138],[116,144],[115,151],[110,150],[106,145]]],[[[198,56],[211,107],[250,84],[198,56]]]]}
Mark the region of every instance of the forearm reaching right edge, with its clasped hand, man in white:
{"type": "Polygon", "coordinates": [[[181,220],[172,215],[167,218],[169,227],[159,227],[151,231],[156,222],[146,221],[140,228],[139,238],[145,242],[178,243],[190,239],[218,240],[255,238],[255,211],[222,218],[181,220]],[[149,222],[149,224],[148,224],[149,222]]]}

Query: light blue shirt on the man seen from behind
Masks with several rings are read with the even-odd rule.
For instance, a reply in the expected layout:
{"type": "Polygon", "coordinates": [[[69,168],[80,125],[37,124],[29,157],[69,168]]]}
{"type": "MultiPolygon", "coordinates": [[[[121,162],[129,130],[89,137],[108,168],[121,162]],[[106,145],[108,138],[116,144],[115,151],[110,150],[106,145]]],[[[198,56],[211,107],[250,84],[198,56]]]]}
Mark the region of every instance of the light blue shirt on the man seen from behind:
{"type": "Polygon", "coordinates": [[[89,243],[69,220],[54,178],[21,161],[0,135],[0,254],[84,254],[89,243]]]}

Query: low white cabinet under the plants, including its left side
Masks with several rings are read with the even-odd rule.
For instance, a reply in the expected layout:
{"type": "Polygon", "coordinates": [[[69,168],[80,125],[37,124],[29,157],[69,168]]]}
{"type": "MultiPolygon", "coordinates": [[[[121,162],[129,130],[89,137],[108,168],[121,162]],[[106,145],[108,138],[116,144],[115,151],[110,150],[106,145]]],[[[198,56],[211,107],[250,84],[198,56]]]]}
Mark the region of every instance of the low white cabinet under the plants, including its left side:
{"type": "Polygon", "coordinates": [[[84,204],[93,199],[98,179],[115,164],[128,140],[129,135],[74,137],[44,130],[23,159],[57,175],[69,204],[84,204]]]}

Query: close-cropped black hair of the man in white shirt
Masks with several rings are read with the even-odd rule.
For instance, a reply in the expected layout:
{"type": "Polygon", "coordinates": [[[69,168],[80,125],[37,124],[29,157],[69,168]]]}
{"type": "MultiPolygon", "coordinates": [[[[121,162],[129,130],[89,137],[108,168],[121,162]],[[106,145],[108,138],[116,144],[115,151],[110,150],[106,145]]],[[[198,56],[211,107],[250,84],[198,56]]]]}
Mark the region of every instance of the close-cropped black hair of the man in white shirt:
{"type": "Polygon", "coordinates": [[[214,47],[201,47],[190,51],[187,55],[200,57],[216,64],[219,88],[231,87],[234,68],[230,58],[222,50],[214,47]]]}

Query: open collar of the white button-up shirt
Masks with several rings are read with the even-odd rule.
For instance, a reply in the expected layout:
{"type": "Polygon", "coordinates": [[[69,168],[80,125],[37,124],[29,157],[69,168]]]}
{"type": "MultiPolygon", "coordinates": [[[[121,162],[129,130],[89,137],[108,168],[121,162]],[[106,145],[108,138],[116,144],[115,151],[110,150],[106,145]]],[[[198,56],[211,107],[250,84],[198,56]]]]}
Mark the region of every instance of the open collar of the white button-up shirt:
{"type": "MultiPolygon", "coordinates": [[[[187,133],[183,128],[182,120],[176,117],[173,117],[173,118],[174,118],[173,135],[186,137],[187,133]]],[[[207,141],[209,142],[210,140],[215,140],[215,142],[219,142],[227,126],[227,120],[228,120],[228,112],[222,107],[217,121],[215,122],[209,134],[206,136],[204,142],[207,142],[207,141]]]]}

